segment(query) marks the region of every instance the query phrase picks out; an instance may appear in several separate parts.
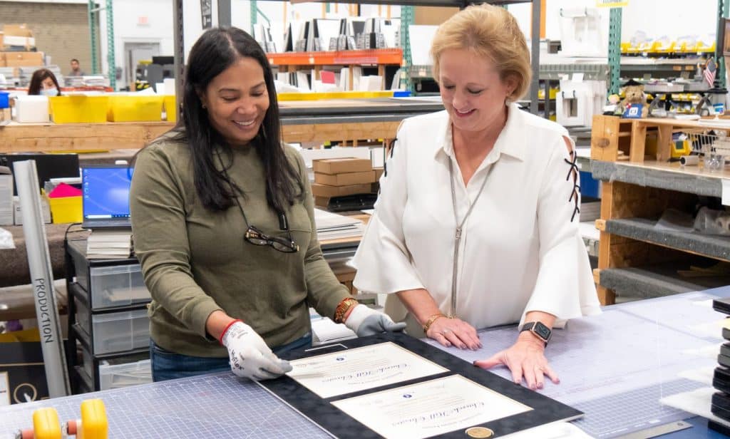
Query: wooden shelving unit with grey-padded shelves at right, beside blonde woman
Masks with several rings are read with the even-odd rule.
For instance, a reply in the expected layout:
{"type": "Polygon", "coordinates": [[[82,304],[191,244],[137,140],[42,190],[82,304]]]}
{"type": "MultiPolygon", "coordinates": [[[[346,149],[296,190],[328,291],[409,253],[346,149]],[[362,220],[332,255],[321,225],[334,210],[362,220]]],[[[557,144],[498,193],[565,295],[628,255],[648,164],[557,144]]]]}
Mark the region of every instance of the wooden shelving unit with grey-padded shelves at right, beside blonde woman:
{"type": "Polygon", "coordinates": [[[591,168],[593,178],[603,182],[594,278],[603,304],[614,303],[617,292],[654,297],[730,282],[728,266],[718,265],[730,262],[730,236],[656,226],[667,209],[692,214],[706,198],[721,198],[723,181],[730,179],[730,171],[666,161],[671,133],[699,127],[713,128],[680,120],[593,117],[591,168]],[[658,139],[656,149],[646,146],[648,132],[658,139]],[[629,161],[619,160],[619,151],[629,161]]]}

